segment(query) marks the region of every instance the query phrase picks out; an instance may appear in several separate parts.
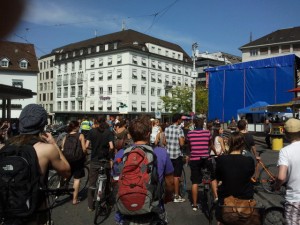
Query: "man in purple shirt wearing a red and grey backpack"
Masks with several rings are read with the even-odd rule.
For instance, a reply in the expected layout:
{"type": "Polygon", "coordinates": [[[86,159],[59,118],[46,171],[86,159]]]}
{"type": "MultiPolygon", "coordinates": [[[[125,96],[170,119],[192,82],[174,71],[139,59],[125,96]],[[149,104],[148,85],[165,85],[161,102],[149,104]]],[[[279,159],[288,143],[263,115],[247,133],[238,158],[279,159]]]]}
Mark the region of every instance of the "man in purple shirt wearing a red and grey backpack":
{"type": "Polygon", "coordinates": [[[119,175],[117,224],[166,224],[164,202],[172,200],[174,189],[171,160],[164,148],[149,146],[149,117],[134,119],[128,130],[134,144],[114,160],[114,178],[119,175]]]}

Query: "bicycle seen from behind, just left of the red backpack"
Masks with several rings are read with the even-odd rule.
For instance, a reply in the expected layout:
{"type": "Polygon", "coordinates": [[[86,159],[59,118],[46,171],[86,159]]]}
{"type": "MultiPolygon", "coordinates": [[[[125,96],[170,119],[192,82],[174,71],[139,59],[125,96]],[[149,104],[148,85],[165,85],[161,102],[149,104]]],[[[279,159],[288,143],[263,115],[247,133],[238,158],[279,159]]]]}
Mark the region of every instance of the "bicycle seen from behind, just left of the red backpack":
{"type": "Polygon", "coordinates": [[[103,159],[99,161],[98,178],[95,187],[95,215],[94,224],[102,223],[110,214],[111,211],[111,193],[112,182],[108,168],[110,168],[109,160],[103,159]]]}

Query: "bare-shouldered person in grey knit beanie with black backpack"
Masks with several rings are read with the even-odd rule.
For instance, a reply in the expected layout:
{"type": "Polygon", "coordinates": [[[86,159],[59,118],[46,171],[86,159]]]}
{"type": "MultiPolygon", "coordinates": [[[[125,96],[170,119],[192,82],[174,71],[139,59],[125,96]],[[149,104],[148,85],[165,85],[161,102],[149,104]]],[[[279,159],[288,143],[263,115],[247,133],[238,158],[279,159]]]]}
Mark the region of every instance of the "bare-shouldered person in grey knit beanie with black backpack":
{"type": "Polygon", "coordinates": [[[0,219],[4,225],[45,224],[48,169],[70,176],[70,166],[50,133],[46,110],[29,104],[19,118],[20,135],[0,150],[0,219]],[[44,210],[43,210],[44,209],[44,210]],[[40,212],[39,212],[40,211],[40,212]]]}

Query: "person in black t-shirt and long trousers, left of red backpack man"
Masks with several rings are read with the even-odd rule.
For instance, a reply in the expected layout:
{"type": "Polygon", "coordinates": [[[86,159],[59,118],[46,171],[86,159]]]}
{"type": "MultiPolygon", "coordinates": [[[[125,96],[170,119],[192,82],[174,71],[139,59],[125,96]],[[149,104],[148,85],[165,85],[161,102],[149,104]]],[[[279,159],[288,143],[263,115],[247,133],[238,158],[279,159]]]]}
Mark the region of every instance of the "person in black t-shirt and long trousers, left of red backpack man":
{"type": "MultiPolygon", "coordinates": [[[[113,160],[114,153],[114,135],[109,130],[109,126],[103,117],[98,118],[99,127],[93,128],[87,136],[86,147],[91,145],[91,162],[89,174],[89,190],[88,190],[88,209],[93,211],[94,191],[98,177],[99,160],[113,160]]],[[[109,169],[106,171],[107,178],[110,179],[109,169]]]]}

